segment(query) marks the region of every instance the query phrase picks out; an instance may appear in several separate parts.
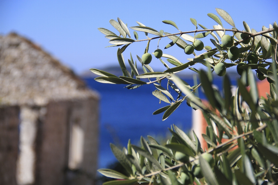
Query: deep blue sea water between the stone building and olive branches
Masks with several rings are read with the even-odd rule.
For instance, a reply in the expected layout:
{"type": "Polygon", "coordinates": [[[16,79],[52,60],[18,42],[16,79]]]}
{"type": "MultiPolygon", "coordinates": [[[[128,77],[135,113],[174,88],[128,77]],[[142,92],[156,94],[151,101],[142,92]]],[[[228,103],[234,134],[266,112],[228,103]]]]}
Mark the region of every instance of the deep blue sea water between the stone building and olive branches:
{"type": "MultiPolygon", "coordinates": [[[[171,124],[178,125],[185,132],[191,129],[192,111],[186,103],[182,103],[168,119],[162,121],[162,115],[152,113],[159,108],[169,105],[161,102],[152,95],[156,88],[150,85],[143,85],[139,88],[129,90],[126,85],[103,84],[96,82],[94,78],[83,78],[89,88],[98,91],[100,94],[100,118],[99,118],[99,153],[98,168],[106,168],[113,163],[116,158],[110,150],[109,143],[114,143],[119,147],[127,147],[128,140],[138,145],[140,136],[166,136],[168,127],[171,124]]],[[[193,78],[184,79],[193,86],[193,78]]],[[[222,77],[215,78],[214,84],[221,90],[222,77]]],[[[232,85],[236,85],[236,80],[232,79],[232,85]]],[[[162,86],[167,87],[167,80],[162,81],[162,86]]],[[[176,93],[170,88],[173,97],[176,93]]],[[[199,96],[205,96],[199,89],[199,96]]]]}

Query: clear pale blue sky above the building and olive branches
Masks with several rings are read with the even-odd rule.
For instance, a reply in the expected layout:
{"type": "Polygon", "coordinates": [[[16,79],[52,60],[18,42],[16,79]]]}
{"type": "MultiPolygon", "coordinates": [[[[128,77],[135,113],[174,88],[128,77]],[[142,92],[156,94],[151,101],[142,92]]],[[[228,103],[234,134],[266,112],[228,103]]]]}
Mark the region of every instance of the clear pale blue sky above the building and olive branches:
{"type": "MultiPolygon", "coordinates": [[[[242,21],[246,21],[257,31],[265,25],[278,21],[277,0],[234,0],[234,1],[85,1],[85,0],[0,0],[0,34],[11,31],[25,36],[39,44],[47,52],[58,58],[63,64],[81,73],[89,68],[103,68],[117,65],[116,47],[104,48],[110,45],[108,39],[98,31],[98,27],[117,32],[109,23],[110,19],[120,17],[124,23],[137,26],[139,21],[156,30],[174,33],[177,30],[162,23],[163,20],[174,21],[180,30],[194,30],[189,18],[195,18],[198,23],[212,28],[215,21],[207,13],[217,14],[215,8],[226,10],[233,18],[237,29],[244,29],[242,21]]],[[[222,19],[222,18],[221,18],[222,19]]],[[[225,28],[231,28],[223,19],[225,28]]],[[[133,30],[130,29],[130,32],[133,30]]],[[[145,38],[138,33],[139,39],[145,38]]],[[[205,45],[211,45],[203,38],[205,45]]],[[[164,48],[170,40],[160,41],[164,48]]],[[[125,60],[129,52],[133,57],[142,56],[147,42],[134,43],[124,52],[125,60]]],[[[157,41],[152,41],[150,51],[157,47],[157,41]]],[[[163,50],[186,62],[182,49],[173,46],[163,50]]],[[[152,62],[151,66],[160,69],[161,64],[152,62]]]]}

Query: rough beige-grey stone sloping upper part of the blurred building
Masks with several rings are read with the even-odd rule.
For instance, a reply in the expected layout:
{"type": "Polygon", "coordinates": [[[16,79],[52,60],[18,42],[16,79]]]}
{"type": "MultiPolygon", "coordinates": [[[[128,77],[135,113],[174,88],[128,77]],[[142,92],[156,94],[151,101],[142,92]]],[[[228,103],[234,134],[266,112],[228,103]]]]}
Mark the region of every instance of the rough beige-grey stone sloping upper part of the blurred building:
{"type": "Polygon", "coordinates": [[[2,103],[12,105],[98,98],[70,69],[16,34],[0,36],[0,86],[2,103]]]}

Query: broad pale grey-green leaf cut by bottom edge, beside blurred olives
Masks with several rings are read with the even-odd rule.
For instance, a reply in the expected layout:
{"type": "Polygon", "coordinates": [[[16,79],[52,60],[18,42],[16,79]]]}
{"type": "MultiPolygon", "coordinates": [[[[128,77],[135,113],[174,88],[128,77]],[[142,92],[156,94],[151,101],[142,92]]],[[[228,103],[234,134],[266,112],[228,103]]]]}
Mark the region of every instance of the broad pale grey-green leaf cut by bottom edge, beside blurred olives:
{"type": "Polygon", "coordinates": [[[219,185],[209,163],[202,156],[199,157],[199,160],[200,167],[204,177],[206,178],[206,181],[209,184],[219,185]]]}

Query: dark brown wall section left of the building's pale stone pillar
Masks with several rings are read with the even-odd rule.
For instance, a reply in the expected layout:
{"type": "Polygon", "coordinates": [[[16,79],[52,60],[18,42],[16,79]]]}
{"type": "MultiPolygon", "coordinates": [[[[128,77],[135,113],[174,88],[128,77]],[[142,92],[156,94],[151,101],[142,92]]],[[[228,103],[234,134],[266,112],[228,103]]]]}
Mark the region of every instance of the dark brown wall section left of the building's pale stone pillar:
{"type": "Polygon", "coordinates": [[[0,184],[16,185],[19,107],[0,107],[0,184]]]}

